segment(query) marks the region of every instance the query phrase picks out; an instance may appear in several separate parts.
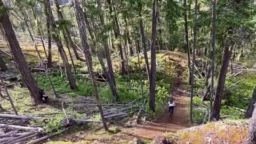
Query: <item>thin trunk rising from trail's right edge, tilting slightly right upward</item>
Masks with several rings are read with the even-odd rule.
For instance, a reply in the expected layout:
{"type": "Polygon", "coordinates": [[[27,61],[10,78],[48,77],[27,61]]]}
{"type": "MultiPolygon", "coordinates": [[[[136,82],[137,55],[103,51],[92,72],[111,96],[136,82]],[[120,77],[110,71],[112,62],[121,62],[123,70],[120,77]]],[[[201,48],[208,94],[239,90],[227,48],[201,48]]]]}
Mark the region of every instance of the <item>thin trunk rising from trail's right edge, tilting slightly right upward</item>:
{"type": "Polygon", "coordinates": [[[194,22],[194,42],[193,42],[193,58],[191,68],[191,93],[190,93],[190,122],[193,123],[193,97],[194,97],[194,70],[195,70],[195,52],[196,52],[196,31],[197,31],[197,13],[198,1],[195,2],[195,22],[194,22]]]}

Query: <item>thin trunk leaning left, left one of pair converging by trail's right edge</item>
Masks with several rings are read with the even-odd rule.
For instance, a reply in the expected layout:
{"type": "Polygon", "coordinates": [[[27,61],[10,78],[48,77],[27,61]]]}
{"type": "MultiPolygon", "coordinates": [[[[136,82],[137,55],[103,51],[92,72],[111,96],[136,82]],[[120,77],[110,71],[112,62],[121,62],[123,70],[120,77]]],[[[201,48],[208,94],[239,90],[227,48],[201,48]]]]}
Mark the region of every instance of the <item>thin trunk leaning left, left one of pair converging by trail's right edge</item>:
{"type": "Polygon", "coordinates": [[[189,74],[189,84],[191,84],[191,66],[190,66],[190,49],[188,41],[188,18],[187,18],[187,0],[184,0],[184,9],[185,9],[185,39],[186,39],[186,50],[188,55],[188,74],[189,74]]]}

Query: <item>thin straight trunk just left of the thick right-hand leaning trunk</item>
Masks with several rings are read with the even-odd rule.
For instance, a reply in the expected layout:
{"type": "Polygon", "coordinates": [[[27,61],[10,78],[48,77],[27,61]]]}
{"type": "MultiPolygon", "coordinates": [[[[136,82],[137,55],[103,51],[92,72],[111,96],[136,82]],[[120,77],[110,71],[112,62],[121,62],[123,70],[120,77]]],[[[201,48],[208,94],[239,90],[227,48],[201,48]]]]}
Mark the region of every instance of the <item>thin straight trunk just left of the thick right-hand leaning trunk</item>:
{"type": "Polygon", "coordinates": [[[212,99],[214,94],[214,69],[215,69],[215,41],[216,41],[216,5],[217,0],[213,0],[213,11],[212,11],[212,66],[211,66],[211,96],[210,96],[210,109],[209,109],[209,121],[211,121],[212,114],[212,99]]]}

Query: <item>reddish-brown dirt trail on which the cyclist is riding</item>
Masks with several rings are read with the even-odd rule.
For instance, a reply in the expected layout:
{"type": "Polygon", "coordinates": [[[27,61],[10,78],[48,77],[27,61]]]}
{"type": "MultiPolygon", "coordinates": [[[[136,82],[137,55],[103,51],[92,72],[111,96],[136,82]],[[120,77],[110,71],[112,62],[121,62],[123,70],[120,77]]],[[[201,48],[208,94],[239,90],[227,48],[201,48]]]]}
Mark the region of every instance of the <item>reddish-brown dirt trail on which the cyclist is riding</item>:
{"type": "Polygon", "coordinates": [[[177,132],[189,127],[188,117],[188,93],[182,84],[182,76],[184,69],[178,70],[178,78],[175,81],[174,88],[171,91],[170,97],[174,99],[177,107],[174,108],[174,114],[171,116],[167,110],[167,101],[163,104],[166,107],[165,113],[154,122],[145,122],[132,133],[137,137],[144,139],[153,139],[161,136],[165,132],[177,132]]]}

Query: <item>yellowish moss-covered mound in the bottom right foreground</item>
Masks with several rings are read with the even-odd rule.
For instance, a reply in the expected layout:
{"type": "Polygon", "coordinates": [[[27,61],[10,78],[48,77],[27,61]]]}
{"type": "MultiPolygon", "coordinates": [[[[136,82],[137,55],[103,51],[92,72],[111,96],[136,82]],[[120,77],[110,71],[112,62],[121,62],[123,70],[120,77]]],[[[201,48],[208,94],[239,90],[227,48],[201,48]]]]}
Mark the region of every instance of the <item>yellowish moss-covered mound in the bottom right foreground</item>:
{"type": "Polygon", "coordinates": [[[174,143],[227,143],[238,144],[246,140],[248,128],[239,121],[215,122],[191,127],[175,134],[166,133],[164,137],[174,143]]]}

